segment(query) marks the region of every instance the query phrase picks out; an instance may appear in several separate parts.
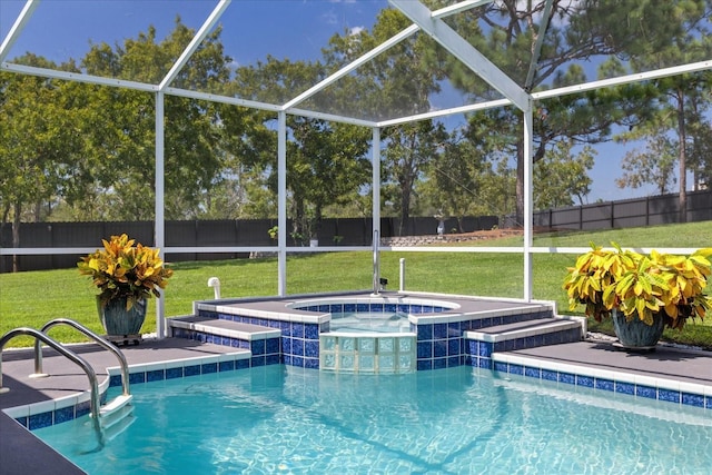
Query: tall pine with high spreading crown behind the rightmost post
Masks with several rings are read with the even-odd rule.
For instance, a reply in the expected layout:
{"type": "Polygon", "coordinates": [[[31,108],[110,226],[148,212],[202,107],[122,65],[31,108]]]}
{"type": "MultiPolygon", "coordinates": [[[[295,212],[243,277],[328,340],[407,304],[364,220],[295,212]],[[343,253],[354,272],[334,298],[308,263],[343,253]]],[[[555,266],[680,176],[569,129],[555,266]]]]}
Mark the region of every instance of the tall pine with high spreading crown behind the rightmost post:
{"type": "MultiPolygon", "coordinates": [[[[439,4],[439,2],[436,2],[439,4]]],[[[584,0],[553,2],[546,31],[540,31],[544,1],[492,2],[483,9],[472,9],[452,18],[454,28],[479,51],[485,52],[524,90],[557,87],[584,81],[577,62],[596,57],[620,58],[623,61],[649,55],[668,46],[684,30],[684,17],[701,18],[702,0],[668,2],[659,0],[622,0],[614,3],[584,0]],[[685,3],[684,6],[682,3],[685,3]],[[689,8],[688,3],[694,4],[689,8]],[[485,26],[486,28],[481,28],[485,26]],[[527,66],[538,36],[545,34],[536,73],[527,76],[527,66]],[[568,65],[566,67],[566,65],[568,65]],[[565,72],[561,72],[566,68],[565,72]],[[550,86],[551,85],[551,86],[550,86]]],[[[497,97],[493,89],[476,78],[458,60],[447,62],[447,76],[459,90],[475,100],[497,97]]],[[[605,71],[602,70],[602,73],[605,71]]],[[[547,100],[535,115],[534,160],[557,138],[577,142],[604,140],[612,125],[632,126],[647,113],[651,89],[627,86],[592,93],[547,100]],[[620,105],[620,107],[613,107],[620,105]],[[609,117],[610,116],[610,117],[609,117]]],[[[516,219],[522,224],[524,209],[524,144],[522,115],[512,109],[473,115],[477,129],[483,116],[497,121],[494,130],[511,137],[508,148],[516,159],[516,219]]],[[[500,139],[497,139],[500,142],[500,139]]],[[[497,142],[497,144],[498,144],[497,142]]],[[[493,146],[493,148],[496,148],[493,146]]]]}

